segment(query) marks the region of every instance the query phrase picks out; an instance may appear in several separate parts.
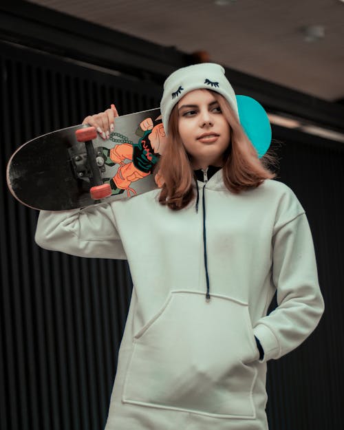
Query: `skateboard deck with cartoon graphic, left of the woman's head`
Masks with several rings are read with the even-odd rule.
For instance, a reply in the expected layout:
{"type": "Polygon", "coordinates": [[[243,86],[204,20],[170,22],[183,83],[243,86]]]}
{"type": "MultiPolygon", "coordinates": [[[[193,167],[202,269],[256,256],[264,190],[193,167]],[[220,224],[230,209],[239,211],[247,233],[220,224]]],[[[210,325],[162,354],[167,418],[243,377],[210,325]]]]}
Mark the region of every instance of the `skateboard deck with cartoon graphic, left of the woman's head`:
{"type": "Polygon", "coordinates": [[[115,118],[108,140],[85,125],[53,131],[14,152],[8,187],[22,204],[45,211],[91,206],[110,195],[131,197],[155,188],[151,173],[165,139],[160,109],[115,118]],[[94,136],[79,142],[78,133],[89,131],[94,136]]]}

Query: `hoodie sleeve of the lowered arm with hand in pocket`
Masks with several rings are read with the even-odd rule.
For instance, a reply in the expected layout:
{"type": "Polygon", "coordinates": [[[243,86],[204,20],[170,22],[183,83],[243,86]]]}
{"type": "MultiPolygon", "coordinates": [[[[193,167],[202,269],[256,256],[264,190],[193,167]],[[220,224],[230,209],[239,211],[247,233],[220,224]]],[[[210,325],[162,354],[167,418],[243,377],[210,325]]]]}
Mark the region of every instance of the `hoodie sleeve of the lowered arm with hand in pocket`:
{"type": "MultiPolygon", "coordinates": [[[[294,206],[301,207],[294,198],[294,206]]],[[[254,327],[264,350],[262,362],[299,346],[318,325],[324,310],[312,234],[304,211],[288,222],[277,222],[272,249],[272,281],[278,306],[254,327]]]]}

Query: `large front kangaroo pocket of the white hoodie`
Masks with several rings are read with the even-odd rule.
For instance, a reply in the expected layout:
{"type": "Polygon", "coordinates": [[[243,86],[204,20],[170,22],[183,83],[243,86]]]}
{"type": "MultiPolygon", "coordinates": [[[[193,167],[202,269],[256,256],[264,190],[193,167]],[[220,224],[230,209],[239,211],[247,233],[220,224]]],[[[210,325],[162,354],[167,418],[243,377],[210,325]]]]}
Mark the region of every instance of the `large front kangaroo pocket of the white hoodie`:
{"type": "Polygon", "coordinates": [[[257,356],[247,303],[171,292],[134,337],[122,401],[252,419],[257,356]]]}

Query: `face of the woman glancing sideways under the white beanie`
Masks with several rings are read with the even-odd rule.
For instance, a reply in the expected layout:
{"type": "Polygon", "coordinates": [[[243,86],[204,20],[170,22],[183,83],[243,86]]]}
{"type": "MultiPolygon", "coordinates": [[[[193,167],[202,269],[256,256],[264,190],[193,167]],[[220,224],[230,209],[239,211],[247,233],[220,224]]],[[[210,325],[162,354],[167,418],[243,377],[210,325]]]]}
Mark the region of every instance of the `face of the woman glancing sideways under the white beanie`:
{"type": "Polygon", "coordinates": [[[195,89],[180,99],[177,109],[180,138],[193,169],[222,166],[230,126],[212,92],[195,89]]]}

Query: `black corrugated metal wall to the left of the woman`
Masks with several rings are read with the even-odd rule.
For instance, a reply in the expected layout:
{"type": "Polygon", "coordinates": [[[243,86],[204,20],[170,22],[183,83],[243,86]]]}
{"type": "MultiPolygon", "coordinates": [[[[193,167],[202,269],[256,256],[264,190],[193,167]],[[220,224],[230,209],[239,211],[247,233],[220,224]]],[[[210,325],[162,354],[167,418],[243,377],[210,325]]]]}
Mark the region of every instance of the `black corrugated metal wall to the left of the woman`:
{"type": "Polygon", "coordinates": [[[20,144],[115,102],[158,105],[160,87],[1,44],[1,429],[102,429],[131,280],[127,263],[34,244],[36,211],[14,200],[5,169],[20,144]]]}

